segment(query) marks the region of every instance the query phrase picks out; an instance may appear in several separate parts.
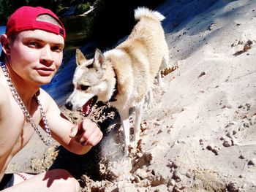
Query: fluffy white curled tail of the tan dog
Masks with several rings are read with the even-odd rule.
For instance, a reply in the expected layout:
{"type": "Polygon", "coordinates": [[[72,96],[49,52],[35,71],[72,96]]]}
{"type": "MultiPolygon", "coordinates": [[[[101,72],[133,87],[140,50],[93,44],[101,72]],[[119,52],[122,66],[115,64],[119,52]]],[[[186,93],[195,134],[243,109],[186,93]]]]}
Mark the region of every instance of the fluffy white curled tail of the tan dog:
{"type": "Polygon", "coordinates": [[[157,11],[152,11],[146,7],[138,7],[135,9],[135,20],[140,20],[143,17],[152,18],[155,20],[162,21],[165,19],[165,16],[157,11]]]}

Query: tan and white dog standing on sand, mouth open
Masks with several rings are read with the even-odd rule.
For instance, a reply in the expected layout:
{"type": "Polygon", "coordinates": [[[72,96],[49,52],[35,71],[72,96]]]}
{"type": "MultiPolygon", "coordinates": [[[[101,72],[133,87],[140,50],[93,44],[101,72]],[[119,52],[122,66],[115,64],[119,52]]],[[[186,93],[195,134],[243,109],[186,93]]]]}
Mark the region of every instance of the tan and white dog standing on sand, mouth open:
{"type": "Polygon", "coordinates": [[[124,130],[124,153],[129,154],[129,109],[135,109],[134,142],[140,136],[140,123],[146,97],[152,102],[152,85],[157,77],[163,85],[161,70],[167,68],[169,50],[159,12],[146,7],[135,9],[138,23],[124,42],[102,53],[95,50],[89,60],[76,50],[74,91],[65,106],[69,110],[83,107],[89,115],[95,101],[108,101],[116,107],[124,130]]]}

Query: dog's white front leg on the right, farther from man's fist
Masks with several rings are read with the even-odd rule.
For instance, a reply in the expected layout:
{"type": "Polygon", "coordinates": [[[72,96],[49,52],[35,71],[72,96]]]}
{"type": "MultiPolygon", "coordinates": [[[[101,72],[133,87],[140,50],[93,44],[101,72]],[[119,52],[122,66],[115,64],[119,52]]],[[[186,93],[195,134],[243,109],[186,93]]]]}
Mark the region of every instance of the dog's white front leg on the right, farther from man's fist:
{"type": "Polygon", "coordinates": [[[143,115],[143,104],[144,100],[140,102],[137,106],[135,106],[135,130],[134,130],[134,142],[135,144],[138,142],[140,138],[140,123],[143,115]]]}

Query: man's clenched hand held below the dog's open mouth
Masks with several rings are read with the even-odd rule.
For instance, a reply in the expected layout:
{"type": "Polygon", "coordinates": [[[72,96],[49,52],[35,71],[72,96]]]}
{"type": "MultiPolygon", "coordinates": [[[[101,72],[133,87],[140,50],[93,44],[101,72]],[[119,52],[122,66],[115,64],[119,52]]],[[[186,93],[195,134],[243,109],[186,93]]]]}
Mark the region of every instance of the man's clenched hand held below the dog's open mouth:
{"type": "Polygon", "coordinates": [[[102,139],[102,131],[96,123],[89,119],[83,120],[71,130],[69,137],[74,138],[83,146],[95,146],[102,139]]]}

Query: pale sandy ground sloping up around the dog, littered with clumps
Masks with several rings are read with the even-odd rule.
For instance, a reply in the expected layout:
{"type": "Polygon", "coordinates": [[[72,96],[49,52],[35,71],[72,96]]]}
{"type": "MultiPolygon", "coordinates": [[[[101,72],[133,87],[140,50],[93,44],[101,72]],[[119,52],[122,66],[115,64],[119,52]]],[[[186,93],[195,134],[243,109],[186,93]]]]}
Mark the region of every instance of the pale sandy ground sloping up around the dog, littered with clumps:
{"type": "Polygon", "coordinates": [[[155,106],[144,109],[129,158],[122,155],[122,129],[113,125],[118,114],[99,104],[90,116],[105,133],[99,146],[86,155],[57,144],[38,151],[35,137],[9,171],[65,168],[81,191],[256,191],[255,7],[249,0],[159,6],[177,69],[165,73],[165,88],[154,85],[155,106]]]}

